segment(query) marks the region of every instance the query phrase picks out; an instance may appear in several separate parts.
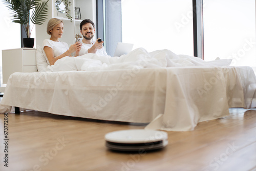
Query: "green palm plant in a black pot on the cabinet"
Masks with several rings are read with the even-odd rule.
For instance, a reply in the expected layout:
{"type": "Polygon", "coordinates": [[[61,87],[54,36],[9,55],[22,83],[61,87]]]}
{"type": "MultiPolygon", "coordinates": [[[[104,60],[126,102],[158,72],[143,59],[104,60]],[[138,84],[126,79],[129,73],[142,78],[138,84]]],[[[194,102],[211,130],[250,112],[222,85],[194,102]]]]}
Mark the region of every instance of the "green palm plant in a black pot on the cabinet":
{"type": "Polygon", "coordinates": [[[19,23],[24,28],[27,38],[23,38],[25,48],[34,47],[31,31],[34,25],[42,25],[48,15],[48,1],[41,0],[5,0],[7,8],[13,12],[13,23],[19,23]],[[31,14],[32,12],[32,14],[31,14]],[[34,24],[31,27],[31,22],[34,24]]]}

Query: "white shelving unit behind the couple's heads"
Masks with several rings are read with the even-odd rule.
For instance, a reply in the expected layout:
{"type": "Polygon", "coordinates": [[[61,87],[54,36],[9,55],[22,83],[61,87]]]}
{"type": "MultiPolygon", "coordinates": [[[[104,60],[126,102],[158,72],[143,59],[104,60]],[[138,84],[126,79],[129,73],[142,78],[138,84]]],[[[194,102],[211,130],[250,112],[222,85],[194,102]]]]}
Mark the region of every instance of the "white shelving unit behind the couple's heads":
{"type": "Polygon", "coordinates": [[[51,18],[60,18],[63,20],[64,33],[60,41],[67,42],[68,45],[74,44],[75,35],[80,34],[80,23],[83,19],[91,19],[96,24],[96,0],[69,0],[71,6],[72,22],[66,17],[66,13],[58,13],[55,7],[56,0],[49,0],[48,17],[44,25],[36,25],[36,45],[42,46],[44,39],[50,38],[47,34],[47,23],[51,18]],[[75,19],[75,7],[80,8],[81,20],[75,19]]]}

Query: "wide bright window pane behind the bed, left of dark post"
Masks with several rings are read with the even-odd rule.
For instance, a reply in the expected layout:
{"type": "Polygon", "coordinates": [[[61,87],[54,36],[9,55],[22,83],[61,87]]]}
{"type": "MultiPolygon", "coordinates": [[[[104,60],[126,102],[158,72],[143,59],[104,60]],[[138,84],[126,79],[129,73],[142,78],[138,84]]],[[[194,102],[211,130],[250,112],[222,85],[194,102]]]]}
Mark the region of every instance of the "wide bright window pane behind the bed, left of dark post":
{"type": "Polygon", "coordinates": [[[194,55],[191,0],[122,0],[122,41],[194,55]]]}

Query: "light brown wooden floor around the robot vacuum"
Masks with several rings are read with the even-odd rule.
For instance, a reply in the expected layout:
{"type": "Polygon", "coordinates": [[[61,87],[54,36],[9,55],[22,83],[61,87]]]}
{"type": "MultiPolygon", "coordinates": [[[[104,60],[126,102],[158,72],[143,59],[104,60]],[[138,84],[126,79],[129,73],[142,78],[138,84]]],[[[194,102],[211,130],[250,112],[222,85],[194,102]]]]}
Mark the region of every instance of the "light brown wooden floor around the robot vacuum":
{"type": "Polygon", "coordinates": [[[256,111],[201,122],[191,132],[168,132],[168,145],[142,154],[104,146],[106,133],[145,124],[106,122],[30,111],[8,115],[8,167],[4,115],[0,115],[0,170],[256,170],[256,111]]]}

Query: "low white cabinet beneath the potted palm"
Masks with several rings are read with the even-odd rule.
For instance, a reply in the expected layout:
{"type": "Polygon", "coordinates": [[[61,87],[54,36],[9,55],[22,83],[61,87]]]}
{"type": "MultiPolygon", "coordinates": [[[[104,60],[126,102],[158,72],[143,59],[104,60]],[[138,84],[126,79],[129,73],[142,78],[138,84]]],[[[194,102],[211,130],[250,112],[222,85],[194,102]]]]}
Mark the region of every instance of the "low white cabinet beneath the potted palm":
{"type": "Polygon", "coordinates": [[[2,50],[3,83],[14,72],[37,72],[36,49],[19,48],[2,50]]]}

